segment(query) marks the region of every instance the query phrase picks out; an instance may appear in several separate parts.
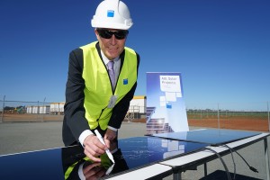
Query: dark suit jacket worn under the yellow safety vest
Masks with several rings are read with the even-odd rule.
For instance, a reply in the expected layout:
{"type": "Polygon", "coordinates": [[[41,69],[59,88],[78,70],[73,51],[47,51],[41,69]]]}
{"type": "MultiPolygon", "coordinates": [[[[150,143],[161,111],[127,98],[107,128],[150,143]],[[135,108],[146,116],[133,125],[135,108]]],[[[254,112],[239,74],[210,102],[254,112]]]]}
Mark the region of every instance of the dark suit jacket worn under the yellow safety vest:
{"type": "MultiPolygon", "coordinates": [[[[100,58],[101,49],[99,43],[96,43],[95,48],[98,50],[100,58]]],[[[121,67],[124,62],[124,51],[121,53],[121,67]]],[[[137,54],[137,53],[136,53],[137,54]]],[[[83,50],[74,49],[69,54],[68,75],[66,85],[66,103],[64,106],[64,121],[62,128],[62,138],[66,146],[75,144],[78,142],[80,134],[84,130],[90,130],[87,120],[85,119],[84,108],[84,88],[85,80],[82,77],[84,63],[83,63],[83,50]]],[[[137,54],[139,69],[139,54],[137,54]]],[[[121,73],[120,67],[120,73],[121,73]]],[[[119,129],[121,122],[123,121],[126,113],[129,110],[130,101],[133,98],[137,87],[137,82],[130,89],[130,92],[126,94],[119,103],[117,103],[112,109],[112,117],[109,121],[109,126],[119,129]]]]}

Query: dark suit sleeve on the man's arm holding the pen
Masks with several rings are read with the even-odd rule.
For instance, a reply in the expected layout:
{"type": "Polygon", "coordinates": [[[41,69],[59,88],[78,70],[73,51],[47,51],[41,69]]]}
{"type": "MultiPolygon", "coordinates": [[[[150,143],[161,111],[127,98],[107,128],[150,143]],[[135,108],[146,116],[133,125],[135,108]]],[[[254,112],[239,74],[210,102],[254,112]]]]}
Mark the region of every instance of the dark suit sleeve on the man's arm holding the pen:
{"type": "Polygon", "coordinates": [[[85,119],[85,80],[82,77],[82,73],[83,50],[75,49],[69,54],[64,121],[66,128],[69,129],[67,130],[69,131],[67,137],[71,136],[71,133],[76,141],[78,141],[80,134],[84,130],[90,130],[85,119]]]}

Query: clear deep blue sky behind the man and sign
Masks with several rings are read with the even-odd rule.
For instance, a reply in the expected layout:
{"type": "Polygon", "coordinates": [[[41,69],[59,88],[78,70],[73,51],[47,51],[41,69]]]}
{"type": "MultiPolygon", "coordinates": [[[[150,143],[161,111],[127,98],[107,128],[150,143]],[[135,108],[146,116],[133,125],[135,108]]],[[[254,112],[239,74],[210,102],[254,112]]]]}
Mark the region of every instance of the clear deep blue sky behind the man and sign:
{"type": "MultiPolygon", "coordinates": [[[[1,0],[0,99],[64,102],[68,54],[93,40],[101,0],[1,0]]],[[[181,72],[188,107],[270,101],[269,0],[123,1],[146,72],[181,72]]]]}

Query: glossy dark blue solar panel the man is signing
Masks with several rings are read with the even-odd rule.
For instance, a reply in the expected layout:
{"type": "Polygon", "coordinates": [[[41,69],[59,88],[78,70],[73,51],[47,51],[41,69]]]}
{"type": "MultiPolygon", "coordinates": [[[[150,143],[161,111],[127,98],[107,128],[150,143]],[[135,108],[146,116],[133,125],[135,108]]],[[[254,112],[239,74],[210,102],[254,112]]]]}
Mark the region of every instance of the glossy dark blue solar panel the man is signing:
{"type": "Polygon", "coordinates": [[[101,157],[101,165],[93,163],[85,157],[84,148],[81,146],[0,156],[0,179],[74,180],[80,179],[78,172],[82,170],[88,175],[97,175],[93,172],[98,172],[100,177],[106,178],[165,159],[183,156],[206,146],[202,143],[156,137],[119,139],[112,154],[114,165],[105,154],[101,157]]]}

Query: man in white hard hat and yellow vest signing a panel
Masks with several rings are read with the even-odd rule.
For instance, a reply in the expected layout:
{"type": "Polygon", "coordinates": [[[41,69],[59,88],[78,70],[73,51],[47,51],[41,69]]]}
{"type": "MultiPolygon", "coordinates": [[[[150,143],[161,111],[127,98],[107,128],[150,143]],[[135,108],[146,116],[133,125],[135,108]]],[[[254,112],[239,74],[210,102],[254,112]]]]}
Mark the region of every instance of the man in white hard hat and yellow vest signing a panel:
{"type": "Polygon", "coordinates": [[[98,41],[69,54],[63,141],[65,146],[81,144],[87,157],[101,162],[99,156],[117,138],[133,98],[139,54],[125,47],[132,26],[126,4],[104,0],[91,23],[98,41]],[[110,64],[112,69],[108,69],[110,64]],[[94,130],[103,135],[105,145],[94,130]]]}

